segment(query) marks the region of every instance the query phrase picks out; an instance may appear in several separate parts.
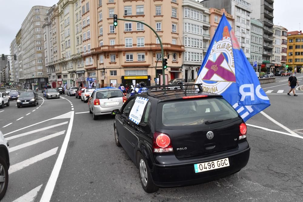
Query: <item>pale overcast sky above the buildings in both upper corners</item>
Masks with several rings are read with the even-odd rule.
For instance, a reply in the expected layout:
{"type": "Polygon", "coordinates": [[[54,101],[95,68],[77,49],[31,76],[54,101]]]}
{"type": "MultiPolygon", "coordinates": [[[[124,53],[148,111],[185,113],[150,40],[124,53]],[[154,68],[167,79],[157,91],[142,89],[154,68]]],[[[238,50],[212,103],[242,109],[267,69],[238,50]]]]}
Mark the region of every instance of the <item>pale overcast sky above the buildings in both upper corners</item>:
{"type": "MultiPolygon", "coordinates": [[[[283,26],[288,31],[299,31],[299,23],[302,21],[301,2],[301,0],[275,0],[275,25],[283,26]]],[[[58,0],[0,0],[0,54],[9,54],[9,46],[33,6],[52,6],[56,3],[58,0]]]]}

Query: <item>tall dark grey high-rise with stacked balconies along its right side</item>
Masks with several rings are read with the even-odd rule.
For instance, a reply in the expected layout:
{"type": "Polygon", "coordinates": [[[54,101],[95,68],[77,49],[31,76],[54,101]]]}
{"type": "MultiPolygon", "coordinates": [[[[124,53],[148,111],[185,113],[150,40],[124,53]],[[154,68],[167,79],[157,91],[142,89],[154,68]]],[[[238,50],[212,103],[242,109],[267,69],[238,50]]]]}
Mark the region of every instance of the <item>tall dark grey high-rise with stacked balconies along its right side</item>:
{"type": "Polygon", "coordinates": [[[263,29],[263,54],[262,54],[262,67],[266,67],[268,71],[275,64],[270,61],[270,58],[273,57],[273,40],[274,34],[274,0],[247,0],[251,3],[251,17],[255,19],[260,19],[264,25],[263,29]]]}

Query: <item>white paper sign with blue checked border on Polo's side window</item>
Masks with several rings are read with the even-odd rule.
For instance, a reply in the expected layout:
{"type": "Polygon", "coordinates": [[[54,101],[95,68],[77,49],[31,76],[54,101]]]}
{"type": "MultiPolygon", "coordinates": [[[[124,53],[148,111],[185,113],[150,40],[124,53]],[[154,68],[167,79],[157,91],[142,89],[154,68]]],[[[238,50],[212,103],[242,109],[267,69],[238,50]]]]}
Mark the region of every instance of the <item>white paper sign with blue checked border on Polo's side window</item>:
{"type": "Polygon", "coordinates": [[[128,118],[135,124],[139,124],[143,115],[144,108],[148,102],[147,98],[137,97],[135,103],[129,113],[128,118]]]}

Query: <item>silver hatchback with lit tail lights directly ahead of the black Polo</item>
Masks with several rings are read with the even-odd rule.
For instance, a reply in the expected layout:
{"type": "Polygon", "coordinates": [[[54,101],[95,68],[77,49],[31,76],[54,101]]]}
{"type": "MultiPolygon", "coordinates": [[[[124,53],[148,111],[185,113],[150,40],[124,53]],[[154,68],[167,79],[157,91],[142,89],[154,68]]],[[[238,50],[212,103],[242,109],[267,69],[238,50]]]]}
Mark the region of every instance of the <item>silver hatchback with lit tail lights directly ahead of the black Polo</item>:
{"type": "Polygon", "coordinates": [[[111,114],[114,109],[121,109],[127,98],[118,88],[96,89],[88,100],[89,113],[97,120],[99,115],[111,114]]]}

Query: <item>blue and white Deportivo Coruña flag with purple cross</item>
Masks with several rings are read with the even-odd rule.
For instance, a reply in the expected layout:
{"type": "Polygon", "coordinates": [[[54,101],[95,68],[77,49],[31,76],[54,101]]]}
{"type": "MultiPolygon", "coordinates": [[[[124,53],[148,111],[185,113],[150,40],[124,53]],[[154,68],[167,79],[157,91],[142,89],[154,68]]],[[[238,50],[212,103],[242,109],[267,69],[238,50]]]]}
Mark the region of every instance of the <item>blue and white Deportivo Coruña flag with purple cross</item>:
{"type": "Polygon", "coordinates": [[[270,106],[224,14],[195,83],[202,83],[203,91],[221,94],[244,121],[270,106]]]}

